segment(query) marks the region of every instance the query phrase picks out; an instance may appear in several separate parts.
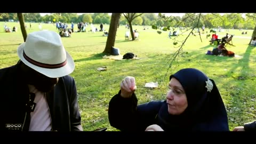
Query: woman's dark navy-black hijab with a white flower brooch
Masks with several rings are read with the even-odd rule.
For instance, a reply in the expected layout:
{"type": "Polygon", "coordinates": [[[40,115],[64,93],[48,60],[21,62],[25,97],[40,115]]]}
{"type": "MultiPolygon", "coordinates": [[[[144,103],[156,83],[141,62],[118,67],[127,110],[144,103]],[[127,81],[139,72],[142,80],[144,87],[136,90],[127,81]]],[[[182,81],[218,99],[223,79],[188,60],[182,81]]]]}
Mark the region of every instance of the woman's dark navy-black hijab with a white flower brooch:
{"type": "MultiPolygon", "coordinates": [[[[170,115],[166,110],[162,110],[165,112],[159,113],[159,118],[165,119],[164,125],[167,123],[169,128],[183,127],[189,129],[189,126],[194,126],[195,123],[211,121],[220,115],[225,117],[227,121],[225,105],[212,79],[195,68],[179,70],[170,76],[170,81],[173,77],[180,82],[185,90],[188,107],[180,115],[170,115]]],[[[167,109],[167,106],[163,109],[167,109]]]]}

